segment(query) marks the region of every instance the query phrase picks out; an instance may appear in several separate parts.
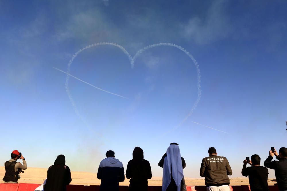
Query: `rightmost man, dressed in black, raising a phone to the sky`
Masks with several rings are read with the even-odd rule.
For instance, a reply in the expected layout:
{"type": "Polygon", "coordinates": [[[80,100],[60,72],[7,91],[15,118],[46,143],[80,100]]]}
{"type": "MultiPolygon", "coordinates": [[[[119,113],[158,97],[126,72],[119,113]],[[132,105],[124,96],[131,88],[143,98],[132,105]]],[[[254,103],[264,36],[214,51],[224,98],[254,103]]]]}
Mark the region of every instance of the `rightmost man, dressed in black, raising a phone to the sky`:
{"type": "Polygon", "coordinates": [[[278,189],[280,191],[287,191],[287,148],[281,147],[279,149],[279,155],[275,148],[272,150],[269,151],[269,156],[265,160],[264,166],[275,170],[278,189]],[[279,161],[272,161],[274,155],[279,161]]]}

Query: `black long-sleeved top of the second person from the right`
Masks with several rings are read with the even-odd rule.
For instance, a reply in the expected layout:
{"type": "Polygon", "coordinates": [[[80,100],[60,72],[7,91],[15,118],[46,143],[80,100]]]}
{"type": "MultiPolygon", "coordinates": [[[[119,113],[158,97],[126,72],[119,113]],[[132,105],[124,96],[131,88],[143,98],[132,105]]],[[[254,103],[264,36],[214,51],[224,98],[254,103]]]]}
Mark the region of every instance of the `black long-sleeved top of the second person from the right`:
{"type": "Polygon", "coordinates": [[[244,176],[248,175],[251,191],[267,191],[268,169],[263,166],[247,167],[242,171],[244,176]]]}

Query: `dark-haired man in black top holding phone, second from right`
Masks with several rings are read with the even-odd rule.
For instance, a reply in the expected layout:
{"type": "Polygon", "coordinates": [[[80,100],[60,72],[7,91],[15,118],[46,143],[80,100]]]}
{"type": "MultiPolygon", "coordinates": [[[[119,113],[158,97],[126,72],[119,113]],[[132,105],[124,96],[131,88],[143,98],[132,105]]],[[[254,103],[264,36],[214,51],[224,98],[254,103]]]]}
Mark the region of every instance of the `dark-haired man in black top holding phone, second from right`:
{"type": "Polygon", "coordinates": [[[268,191],[268,169],[260,166],[259,155],[252,155],[251,160],[246,157],[243,161],[243,168],[241,174],[248,176],[251,191],[268,191]],[[249,164],[251,167],[246,167],[249,164]]]}

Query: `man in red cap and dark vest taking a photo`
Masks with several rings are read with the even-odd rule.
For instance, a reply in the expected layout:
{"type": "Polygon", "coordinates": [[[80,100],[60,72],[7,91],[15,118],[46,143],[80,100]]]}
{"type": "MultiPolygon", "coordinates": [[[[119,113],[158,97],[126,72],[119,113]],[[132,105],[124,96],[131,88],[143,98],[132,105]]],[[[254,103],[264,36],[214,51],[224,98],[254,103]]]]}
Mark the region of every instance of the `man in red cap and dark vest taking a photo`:
{"type": "Polygon", "coordinates": [[[25,158],[23,157],[22,153],[15,150],[11,153],[11,159],[4,163],[5,166],[5,175],[3,181],[5,183],[18,183],[18,179],[20,177],[20,172],[24,173],[22,170],[27,169],[27,163],[25,158]],[[23,160],[23,165],[20,162],[16,162],[18,159],[23,160]]]}

